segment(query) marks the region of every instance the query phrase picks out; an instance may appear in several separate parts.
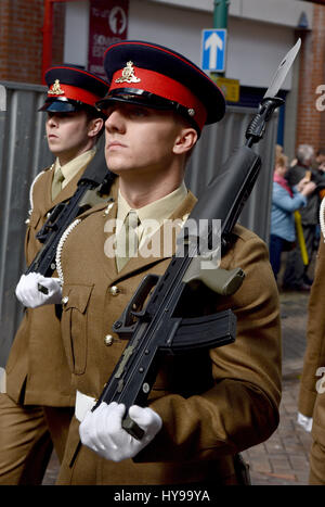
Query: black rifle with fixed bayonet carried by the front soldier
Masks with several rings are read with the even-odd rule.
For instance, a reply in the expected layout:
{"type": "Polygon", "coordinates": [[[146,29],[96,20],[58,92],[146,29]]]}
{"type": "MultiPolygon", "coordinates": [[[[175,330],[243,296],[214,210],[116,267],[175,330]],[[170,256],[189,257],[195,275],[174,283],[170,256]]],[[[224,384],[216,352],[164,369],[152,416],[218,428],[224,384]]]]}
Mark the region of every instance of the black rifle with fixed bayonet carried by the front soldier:
{"type": "MultiPolygon", "coordinates": [[[[284,103],[275,94],[299,47],[300,39],[281,62],[258,113],[247,127],[245,145],[234,151],[221,175],[208,186],[205,199],[198,200],[193,208],[188,219],[196,224],[200,219],[207,220],[206,230],[197,235],[187,233],[181,244],[182,255],[177,250],[162,276],[146,275],[120,318],[114,322],[113,331],[121,339],[129,339],[129,343],[92,410],[102,402],[109,404],[114,401],[125,404],[127,409],[133,404],[145,406],[162,354],[218,347],[234,342],[236,317],[231,309],[204,317],[182,318],[176,316],[176,308],[188,284],[204,282],[221,295],[231,295],[243,283],[245,274],[239,267],[230,271],[217,265],[213,270],[202,269],[206,252],[199,251],[199,235],[207,237],[208,244],[211,244],[211,220],[218,218],[221,220],[221,251],[225,252],[231,244],[233,226],[261,168],[261,159],[251,147],[262,139],[266,122],[284,103]]],[[[122,427],[141,440],[143,430],[129,416],[125,417],[122,427]]]]}

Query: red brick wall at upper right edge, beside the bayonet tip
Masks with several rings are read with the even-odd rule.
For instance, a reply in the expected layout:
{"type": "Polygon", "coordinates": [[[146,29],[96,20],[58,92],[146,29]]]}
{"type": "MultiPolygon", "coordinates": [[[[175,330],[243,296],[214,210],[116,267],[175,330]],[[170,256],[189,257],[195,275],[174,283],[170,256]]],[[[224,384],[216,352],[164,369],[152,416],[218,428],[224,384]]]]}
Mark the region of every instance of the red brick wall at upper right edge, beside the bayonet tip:
{"type": "Polygon", "coordinates": [[[325,112],[317,111],[316,88],[325,85],[325,5],[314,4],[313,30],[302,38],[296,145],[325,145],[325,112]]]}

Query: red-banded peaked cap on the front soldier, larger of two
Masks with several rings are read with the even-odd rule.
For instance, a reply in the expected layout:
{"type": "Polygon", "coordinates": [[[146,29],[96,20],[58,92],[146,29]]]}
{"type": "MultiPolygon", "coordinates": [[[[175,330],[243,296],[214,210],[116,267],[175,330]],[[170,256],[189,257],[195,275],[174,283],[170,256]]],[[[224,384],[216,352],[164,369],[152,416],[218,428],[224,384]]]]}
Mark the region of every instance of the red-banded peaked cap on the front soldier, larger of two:
{"type": "Polygon", "coordinates": [[[225,100],[217,85],[193,62],[164,46],[117,42],[106,50],[104,67],[110,86],[99,107],[125,101],[176,110],[198,131],[225,113],[225,100]]]}

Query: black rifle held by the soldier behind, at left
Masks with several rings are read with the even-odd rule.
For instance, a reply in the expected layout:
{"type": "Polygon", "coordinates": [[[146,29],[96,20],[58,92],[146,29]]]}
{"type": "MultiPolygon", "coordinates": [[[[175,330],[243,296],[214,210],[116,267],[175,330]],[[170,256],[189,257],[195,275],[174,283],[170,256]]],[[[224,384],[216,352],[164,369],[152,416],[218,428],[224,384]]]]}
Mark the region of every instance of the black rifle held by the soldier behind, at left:
{"type": "MultiPolygon", "coordinates": [[[[52,210],[46,224],[36,235],[43,243],[25,275],[36,271],[44,277],[51,277],[55,270],[55,254],[60,239],[73,220],[89,207],[107,201],[107,195],[115,175],[107,169],[104,149],[98,150],[87,169],[78,180],[74,195],[67,202],[61,202],[52,210]]],[[[39,290],[47,293],[48,289],[39,286],[39,290]]]]}

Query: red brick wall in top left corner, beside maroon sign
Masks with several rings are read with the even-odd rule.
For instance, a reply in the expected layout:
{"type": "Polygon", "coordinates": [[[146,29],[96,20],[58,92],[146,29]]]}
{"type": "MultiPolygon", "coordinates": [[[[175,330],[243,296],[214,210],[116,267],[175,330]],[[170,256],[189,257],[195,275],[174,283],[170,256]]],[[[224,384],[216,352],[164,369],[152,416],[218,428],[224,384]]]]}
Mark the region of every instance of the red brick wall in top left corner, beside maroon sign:
{"type": "MultiPolygon", "coordinates": [[[[54,4],[53,63],[62,63],[64,4],[54,4]]],[[[0,79],[41,84],[43,0],[0,1],[0,79]]]]}

